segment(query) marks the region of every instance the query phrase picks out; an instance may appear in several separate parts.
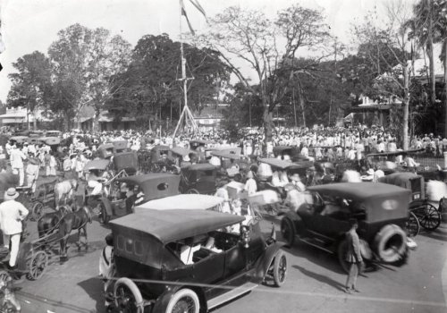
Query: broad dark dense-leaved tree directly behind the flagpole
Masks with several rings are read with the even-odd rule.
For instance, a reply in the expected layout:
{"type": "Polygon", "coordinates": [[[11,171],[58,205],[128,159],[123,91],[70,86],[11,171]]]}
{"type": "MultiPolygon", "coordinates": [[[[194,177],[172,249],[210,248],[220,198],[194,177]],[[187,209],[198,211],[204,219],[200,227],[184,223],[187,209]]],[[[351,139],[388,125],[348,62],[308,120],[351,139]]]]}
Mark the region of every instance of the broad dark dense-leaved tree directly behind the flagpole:
{"type": "MultiPolygon", "coordinates": [[[[188,103],[193,110],[214,103],[216,87],[230,79],[228,68],[215,51],[184,45],[188,83],[188,103]]],[[[176,119],[182,91],[180,43],[166,34],[139,39],[127,71],[117,75],[114,97],[108,107],[119,116],[131,114],[143,125],[149,120],[176,119]]]]}

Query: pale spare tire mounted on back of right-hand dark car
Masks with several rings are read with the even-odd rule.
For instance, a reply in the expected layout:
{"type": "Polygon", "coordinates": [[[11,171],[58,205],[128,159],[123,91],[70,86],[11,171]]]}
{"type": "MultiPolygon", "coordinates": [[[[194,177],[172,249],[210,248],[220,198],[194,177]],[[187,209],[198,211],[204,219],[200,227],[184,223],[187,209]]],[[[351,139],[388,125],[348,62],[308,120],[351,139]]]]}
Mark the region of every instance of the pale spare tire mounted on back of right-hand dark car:
{"type": "Polygon", "coordinates": [[[381,261],[399,261],[407,250],[407,234],[396,224],[385,225],[375,235],[374,246],[381,261]]]}

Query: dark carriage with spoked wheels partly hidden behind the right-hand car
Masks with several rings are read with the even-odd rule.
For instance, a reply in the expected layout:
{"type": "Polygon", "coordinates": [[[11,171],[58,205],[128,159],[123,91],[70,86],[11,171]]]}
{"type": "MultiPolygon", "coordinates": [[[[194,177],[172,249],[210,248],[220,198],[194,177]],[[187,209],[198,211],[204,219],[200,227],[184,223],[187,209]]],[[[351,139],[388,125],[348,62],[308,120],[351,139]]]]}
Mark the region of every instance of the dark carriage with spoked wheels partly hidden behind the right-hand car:
{"type": "Polygon", "coordinates": [[[426,198],[426,184],[424,177],[416,173],[391,173],[379,178],[384,182],[399,186],[411,191],[409,202],[409,219],[407,230],[410,237],[419,233],[419,226],[427,231],[434,231],[441,224],[440,206],[434,207],[426,198]]]}

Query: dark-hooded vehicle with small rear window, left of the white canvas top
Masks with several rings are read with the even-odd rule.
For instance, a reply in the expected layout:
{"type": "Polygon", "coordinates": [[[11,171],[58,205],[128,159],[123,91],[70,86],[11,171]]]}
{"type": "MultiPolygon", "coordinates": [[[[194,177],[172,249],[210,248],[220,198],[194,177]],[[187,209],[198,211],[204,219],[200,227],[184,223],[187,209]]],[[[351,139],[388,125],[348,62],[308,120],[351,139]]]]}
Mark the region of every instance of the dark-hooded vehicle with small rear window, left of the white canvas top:
{"type": "Polygon", "coordinates": [[[116,216],[133,211],[136,203],[173,196],[179,193],[180,176],[171,173],[147,173],[115,177],[106,182],[105,192],[96,202],[90,202],[101,224],[116,216]]]}

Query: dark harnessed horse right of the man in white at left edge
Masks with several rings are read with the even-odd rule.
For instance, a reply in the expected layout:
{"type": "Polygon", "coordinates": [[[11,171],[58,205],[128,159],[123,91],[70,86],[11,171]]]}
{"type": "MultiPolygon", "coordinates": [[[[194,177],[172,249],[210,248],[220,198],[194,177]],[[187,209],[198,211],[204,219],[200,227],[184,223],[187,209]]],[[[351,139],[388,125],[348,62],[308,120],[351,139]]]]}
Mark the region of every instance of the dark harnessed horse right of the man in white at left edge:
{"type": "Polygon", "coordinates": [[[60,259],[61,261],[66,261],[68,259],[67,255],[67,241],[70,233],[73,230],[78,231],[78,250],[80,250],[80,236],[83,233],[85,237],[85,249],[88,250],[88,241],[87,241],[87,224],[92,222],[92,216],[89,207],[80,207],[75,212],[67,212],[59,222],[59,238],[60,238],[60,259]]]}

